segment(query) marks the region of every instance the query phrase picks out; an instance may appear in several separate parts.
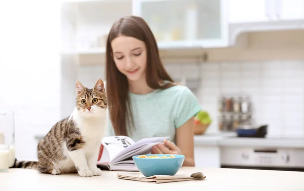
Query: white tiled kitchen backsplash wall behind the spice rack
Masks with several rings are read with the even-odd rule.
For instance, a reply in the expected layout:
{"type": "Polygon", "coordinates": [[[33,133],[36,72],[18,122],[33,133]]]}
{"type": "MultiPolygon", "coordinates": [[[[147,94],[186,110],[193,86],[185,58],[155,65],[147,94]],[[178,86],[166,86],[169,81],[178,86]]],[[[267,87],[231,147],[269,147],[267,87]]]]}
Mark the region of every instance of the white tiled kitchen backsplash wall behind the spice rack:
{"type": "MultiPolygon", "coordinates": [[[[173,78],[200,77],[194,91],[203,109],[214,122],[209,133],[217,131],[217,99],[220,95],[249,95],[258,124],[269,125],[269,137],[304,138],[304,60],[226,62],[204,64],[165,64],[173,78]]],[[[92,86],[104,77],[103,66],[82,66],[79,79],[92,86]]]]}

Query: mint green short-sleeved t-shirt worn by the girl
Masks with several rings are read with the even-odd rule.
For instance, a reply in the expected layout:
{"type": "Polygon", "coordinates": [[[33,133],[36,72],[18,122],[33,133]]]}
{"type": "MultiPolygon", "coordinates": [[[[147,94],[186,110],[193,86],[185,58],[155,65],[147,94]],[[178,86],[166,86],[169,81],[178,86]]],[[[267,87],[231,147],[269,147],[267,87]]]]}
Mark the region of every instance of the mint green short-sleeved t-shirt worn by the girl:
{"type": "MultiPolygon", "coordinates": [[[[176,85],[139,95],[129,92],[133,127],[127,126],[128,136],[135,142],[142,138],[170,136],[175,142],[175,130],[194,117],[201,106],[185,86],[176,85]]],[[[107,136],[115,136],[111,122],[107,136]]]]}

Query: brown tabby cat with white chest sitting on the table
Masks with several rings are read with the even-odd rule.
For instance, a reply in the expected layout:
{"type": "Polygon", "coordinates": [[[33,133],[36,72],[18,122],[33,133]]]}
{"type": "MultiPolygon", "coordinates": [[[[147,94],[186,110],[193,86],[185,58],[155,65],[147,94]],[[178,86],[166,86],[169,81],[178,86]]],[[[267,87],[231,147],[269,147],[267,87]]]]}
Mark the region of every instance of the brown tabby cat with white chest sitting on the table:
{"type": "Polygon", "coordinates": [[[77,106],[56,123],[37,146],[38,161],[17,161],[13,168],[36,169],[41,173],[76,173],[82,177],[101,175],[97,168],[100,142],[108,123],[104,84],[93,89],[76,82],[77,106]]]}

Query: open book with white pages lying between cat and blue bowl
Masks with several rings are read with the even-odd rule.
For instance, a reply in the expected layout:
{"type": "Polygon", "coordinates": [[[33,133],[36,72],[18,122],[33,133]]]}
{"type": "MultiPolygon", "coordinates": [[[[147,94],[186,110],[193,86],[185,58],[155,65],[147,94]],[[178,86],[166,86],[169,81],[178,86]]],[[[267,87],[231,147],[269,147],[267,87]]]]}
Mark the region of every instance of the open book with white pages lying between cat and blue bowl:
{"type": "Polygon", "coordinates": [[[101,141],[97,165],[112,171],[138,171],[132,159],[149,154],[151,148],[169,137],[144,138],[134,142],[127,136],[104,137],[101,141]]]}

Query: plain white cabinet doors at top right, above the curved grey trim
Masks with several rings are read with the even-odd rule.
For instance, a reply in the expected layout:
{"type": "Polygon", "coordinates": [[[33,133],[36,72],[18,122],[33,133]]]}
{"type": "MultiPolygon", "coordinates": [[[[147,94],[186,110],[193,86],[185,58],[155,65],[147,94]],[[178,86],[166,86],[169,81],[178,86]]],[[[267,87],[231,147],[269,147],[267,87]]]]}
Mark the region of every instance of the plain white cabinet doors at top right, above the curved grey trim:
{"type": "Polygon", "coordinates": [[[300,19],[304,19],[303,0],[229,0],[230,23],[300,19]]]}

